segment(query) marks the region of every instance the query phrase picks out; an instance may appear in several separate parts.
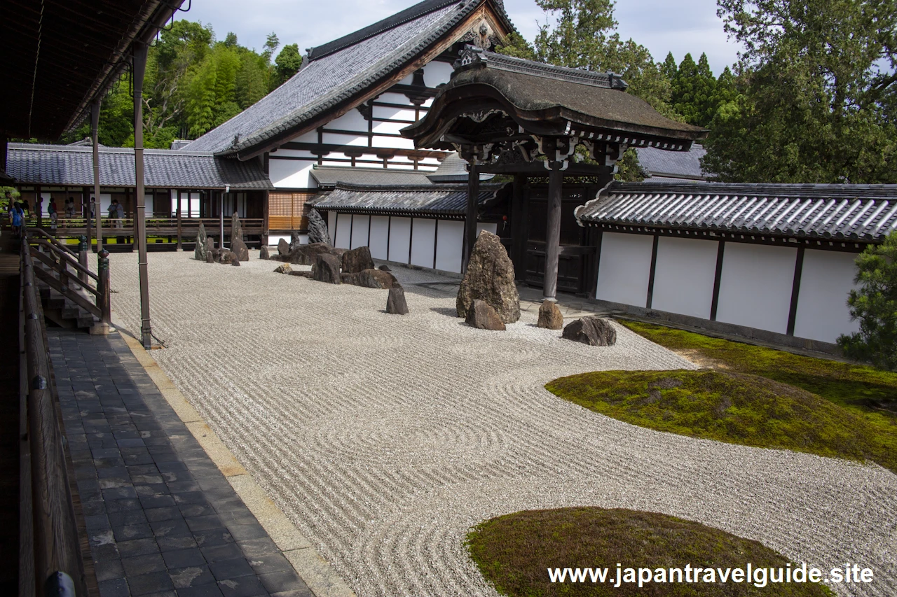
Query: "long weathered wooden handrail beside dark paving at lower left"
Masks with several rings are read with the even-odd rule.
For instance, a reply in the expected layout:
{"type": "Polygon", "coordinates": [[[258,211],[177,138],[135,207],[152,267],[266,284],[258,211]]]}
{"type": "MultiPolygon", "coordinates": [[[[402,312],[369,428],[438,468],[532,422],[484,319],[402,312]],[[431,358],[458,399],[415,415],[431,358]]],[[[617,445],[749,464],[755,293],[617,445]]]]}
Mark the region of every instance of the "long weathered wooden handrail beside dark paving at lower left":
{"type": "Polygon", "coordinates": [[[62,579],[72,581],[78,597],[87,596],[83,554],[74,514],[64,434],[57,419],[58,396],[53,382],[37,287],[35,268],[27,236],[22,238],[21,292],[22,353],[27,380],[27,434],[30,451],[30,497],[32,515],[23,532],[33,539],[33,587],[29,593],[44,594],[44,587],[62,579]],[[60,574],[61,573],[61,574],[60,574]]]}

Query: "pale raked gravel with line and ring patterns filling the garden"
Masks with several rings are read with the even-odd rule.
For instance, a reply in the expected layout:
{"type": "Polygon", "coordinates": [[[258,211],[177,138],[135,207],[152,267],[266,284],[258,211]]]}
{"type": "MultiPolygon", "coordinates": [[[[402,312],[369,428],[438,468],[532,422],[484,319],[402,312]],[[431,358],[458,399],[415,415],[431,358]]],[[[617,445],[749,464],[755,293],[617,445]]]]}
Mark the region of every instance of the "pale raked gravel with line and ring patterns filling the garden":
{"type": "MultiPolygon", "coordinates": [[[[415,286],[432,273],[395,268],[411,315],[391,316],[386,290],[276,265],[151,254],[153,331],[169,347],[153,357],[360,597],[496,595],[463,546],[472,525],[589,505],[700,521],[811,566],[858,563],[875,582],[839,593],[897,594],[892,472],[633,427],[543,387],[693,368],[672,352],[620,326],[614,347],[564,341],[535,309],[506,333],[475,330],[453,295],[415,286]]],[[[112,255],[111,273],[136,332],[136,255],[112,255]]]]}

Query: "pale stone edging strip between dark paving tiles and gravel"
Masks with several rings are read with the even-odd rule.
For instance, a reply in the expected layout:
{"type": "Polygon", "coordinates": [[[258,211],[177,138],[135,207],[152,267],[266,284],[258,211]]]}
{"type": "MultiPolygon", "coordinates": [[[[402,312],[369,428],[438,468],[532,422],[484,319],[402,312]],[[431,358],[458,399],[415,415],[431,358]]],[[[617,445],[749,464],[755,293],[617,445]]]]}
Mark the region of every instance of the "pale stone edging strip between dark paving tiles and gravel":
{"type": "Polygon", "coordinates": [[[181,394],[169,376],[165,375],[150,353],[144,350],[143,345],[126,332],[126,328],[120,325],[121,322],[113,323],[137,362],[159,388],[166,402],[178,414],[193,437],[196,437],[196,441],[203,447],[205,454],[208,454],[215,466],[231,483],[233,490],[257,518],[258,523],[262,525],[277,548],[283,552],[283,557],[287,558],[293,570],[309,586],[311,592],[316,597],[356,597],[342,576],[336,574],[327,560],[318,555],[318,551],[312,547],[309,540],[267,497],[265,491],[252,479],[227,446],[224,446],[212,428],[205,424],[199,412],[187,402],[184,394],[181,394]]]}

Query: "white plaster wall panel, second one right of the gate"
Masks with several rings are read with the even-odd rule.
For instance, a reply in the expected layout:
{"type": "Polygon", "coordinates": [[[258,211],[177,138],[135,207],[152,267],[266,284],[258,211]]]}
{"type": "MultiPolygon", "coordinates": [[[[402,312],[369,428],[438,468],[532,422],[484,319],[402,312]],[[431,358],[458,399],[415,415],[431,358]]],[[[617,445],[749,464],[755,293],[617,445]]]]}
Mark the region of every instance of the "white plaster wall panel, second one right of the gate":
{"type": "Polygon", "coordinates": [[[710,319],[718,247],[713,240],[658,238],[651,308],[710,319]]]}

